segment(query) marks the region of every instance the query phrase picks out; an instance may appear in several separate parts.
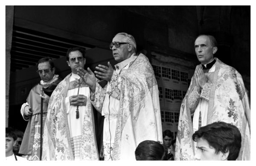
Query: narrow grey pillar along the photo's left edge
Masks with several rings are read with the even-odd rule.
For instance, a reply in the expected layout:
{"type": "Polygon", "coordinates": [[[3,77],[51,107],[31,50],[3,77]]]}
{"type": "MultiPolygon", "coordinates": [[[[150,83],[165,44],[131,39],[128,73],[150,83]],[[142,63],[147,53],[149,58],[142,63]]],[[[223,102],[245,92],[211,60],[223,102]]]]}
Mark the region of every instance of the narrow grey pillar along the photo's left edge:
{"type": "Polygon", "coordinates": [[[6,6],[6,127],[9,118],[9,87],[10,87],[10,66],[12,48],[12,27],[14,17],[14,6],[6,6]]]}

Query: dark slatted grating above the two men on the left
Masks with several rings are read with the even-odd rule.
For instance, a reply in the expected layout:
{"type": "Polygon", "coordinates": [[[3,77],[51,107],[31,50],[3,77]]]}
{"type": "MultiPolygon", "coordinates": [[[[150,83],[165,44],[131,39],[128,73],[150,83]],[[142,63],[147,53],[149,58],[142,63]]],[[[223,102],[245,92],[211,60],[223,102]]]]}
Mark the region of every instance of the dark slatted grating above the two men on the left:
{"type": "Polygon", "coordinates": [[[13,27],[11,49],[11,71],[22,70],[35,66],[39,59],[51,57],[58,59],[66,56],[68,48],[95,48],[83,42],[34,31],[31,29],[13,27]]]}

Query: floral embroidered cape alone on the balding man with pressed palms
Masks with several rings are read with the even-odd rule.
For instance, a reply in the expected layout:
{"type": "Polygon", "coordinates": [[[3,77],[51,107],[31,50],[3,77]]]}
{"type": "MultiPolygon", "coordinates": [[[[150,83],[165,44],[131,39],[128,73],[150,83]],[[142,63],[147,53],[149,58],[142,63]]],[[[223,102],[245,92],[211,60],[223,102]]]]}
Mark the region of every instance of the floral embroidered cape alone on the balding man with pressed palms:
{"type": "MultiPolygon", "coordinates": [[[[212,105],[209,104],[208,113],[211,113],[211,117],[207,123],[213,123],[215,121],[225,121],[227,123],[233,124],[239,128],[241,131],[242,144],[241,149],[250,149],[248,145],[250,144],[250,128],[244,124],[247,124],[247,119],[244,121],[245,112],[250,113],[249,107],[244,107],[244,105],[249,105],[249,101],[244,98],[245,94],[244,83],[242,81],[241,75],[232,67],[225,65],[220,60],[216,59],[215,72],[211,72],[215,78],[212,79],[211,88],[215,88],[212,93],[209,93],[210,98],[213,98],[212,105]],[[246,110],[245,110],[246,109],[246,110]]],[[[189,89],[195,86],[190,84],[189,89]]],[[[189,91],[188,96],[191,93],[189,91]]],[[[203,95],[203,90],[201,92],[201,97],[208,96],[203,95]]],[[[193,146],[192,134],[193,131],[192,121],[189,120],[191,116],[190,105],[188,106],[190,98],[184,98],[184,106],[180,108],[180,118],[177,132],[176,150],[175,150],[175,160],[191,160],[194,156],[193,148],[195,149],[195,143],[193,146]]],[[[210,102],[209,102],[210,103],[210,102]]],[[[208,114],[209,115],[209,114],[208,114]]],[[[195,131],[194,131],[195,132],[195,131]]],[[[247,152],[243,151],[239,154],[238,160],[248,160],[250,158],[250,150],[247,152]]],[[[250,159],[249,159],[250,160],[250,159]]]]}

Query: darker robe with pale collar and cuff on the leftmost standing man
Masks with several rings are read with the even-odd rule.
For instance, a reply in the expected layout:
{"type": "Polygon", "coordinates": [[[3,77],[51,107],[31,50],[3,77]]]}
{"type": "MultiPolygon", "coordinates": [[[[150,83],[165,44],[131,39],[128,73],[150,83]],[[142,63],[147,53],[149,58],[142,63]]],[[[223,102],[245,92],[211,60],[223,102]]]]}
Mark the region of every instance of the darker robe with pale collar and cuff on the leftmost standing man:
{"type": "MultiPolygon", "coordinates": [[[[29,121],[24,132],[20,145],[20,154],[27,160],[40,160],[40,130],[41,130],[41,88],[54,89],[61,82],[58,75],[55,75],[49,82],[41,82],[35,85],[29,92],[26,103],[21,106],[20,113],[23,119],[29,121]],[[31,107],[31,116],[24,115],[24,108],[31,107]]],[[[43,127],[47,114],[48,103],[43,102],[43,127]]]]}

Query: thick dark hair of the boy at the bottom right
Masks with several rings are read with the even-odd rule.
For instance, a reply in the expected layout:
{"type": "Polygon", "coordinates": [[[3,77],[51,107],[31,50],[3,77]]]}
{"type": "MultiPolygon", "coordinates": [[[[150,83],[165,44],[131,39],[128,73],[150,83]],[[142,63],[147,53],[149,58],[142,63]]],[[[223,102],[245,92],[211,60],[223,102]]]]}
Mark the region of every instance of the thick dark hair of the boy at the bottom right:
{"type": "Polygon", "coordinates": [[[197,141],[198,138],[208,141],[209,145],[216,150],[215,154],[220,151],[223,153],[229,151],[227,160],[236,160],[241,148],[239,129],[232,124],[221,121],[201,127],[192,135],[192,138],[194,141],[197,141]]]}

